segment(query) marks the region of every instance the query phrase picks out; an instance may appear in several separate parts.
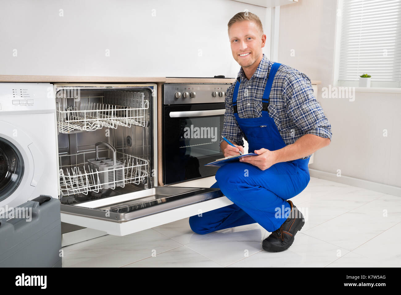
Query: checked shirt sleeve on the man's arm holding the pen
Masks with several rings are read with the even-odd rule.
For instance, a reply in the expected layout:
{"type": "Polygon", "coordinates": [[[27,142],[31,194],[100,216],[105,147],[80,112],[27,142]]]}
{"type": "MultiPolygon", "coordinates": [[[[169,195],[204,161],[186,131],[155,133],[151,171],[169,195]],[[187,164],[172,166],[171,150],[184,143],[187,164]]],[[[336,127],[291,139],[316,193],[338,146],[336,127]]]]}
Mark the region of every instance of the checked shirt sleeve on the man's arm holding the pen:
{"type": "MultiPolygon", "coordinates": [[[[238,81],[236,83],[238,83],[238,81]]],[[[231,86],[227,89],[227,96],[225,98],[224,123],[221,136],[224,136],[236,145],[244,145],[244,141],[242,139],[244,134],[238,125],[237,119],[235,119],[232,108],[234,85],[235,83],[231,84],[231,86]]],[[[223,140],[224,139],[221,137],[220,144],[223,140]]]]}

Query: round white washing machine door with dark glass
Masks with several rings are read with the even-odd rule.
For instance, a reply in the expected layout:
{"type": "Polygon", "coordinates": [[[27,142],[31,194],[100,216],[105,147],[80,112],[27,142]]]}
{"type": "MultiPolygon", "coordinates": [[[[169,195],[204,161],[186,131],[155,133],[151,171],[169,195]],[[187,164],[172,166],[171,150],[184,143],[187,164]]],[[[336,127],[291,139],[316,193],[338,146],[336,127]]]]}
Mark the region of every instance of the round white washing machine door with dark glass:
{"type": "Polygon", "coordinates": [[[43,162],[43,154],[22,128],[0,121],[0,208],[36,197],[43,162]]]}

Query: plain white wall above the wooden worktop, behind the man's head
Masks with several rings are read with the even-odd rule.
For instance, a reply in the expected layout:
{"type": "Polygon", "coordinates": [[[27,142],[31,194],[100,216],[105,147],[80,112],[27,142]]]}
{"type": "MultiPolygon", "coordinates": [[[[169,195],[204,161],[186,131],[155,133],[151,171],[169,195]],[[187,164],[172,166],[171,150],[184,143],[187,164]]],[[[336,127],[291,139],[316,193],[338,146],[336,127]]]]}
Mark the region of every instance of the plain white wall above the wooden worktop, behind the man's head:
{"type": "Polygon", "coordinates": [[[0,7],[0,75],[237,77],[229,19],[248,9],[270,31],[269,9],[231,0],[0,0],[0,7]]]}

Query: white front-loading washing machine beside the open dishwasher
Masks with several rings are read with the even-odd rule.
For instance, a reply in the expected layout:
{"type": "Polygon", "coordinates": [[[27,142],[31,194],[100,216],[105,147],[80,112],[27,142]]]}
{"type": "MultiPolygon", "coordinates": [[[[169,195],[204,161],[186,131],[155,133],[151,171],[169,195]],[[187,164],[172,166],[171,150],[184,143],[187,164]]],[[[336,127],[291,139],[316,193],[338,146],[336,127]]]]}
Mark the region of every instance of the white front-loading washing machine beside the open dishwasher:
{"type": "Polygon", "coordinates": [[[0,83],[0,208],[58,198],[56,106],[50,83],[0,83]]]}

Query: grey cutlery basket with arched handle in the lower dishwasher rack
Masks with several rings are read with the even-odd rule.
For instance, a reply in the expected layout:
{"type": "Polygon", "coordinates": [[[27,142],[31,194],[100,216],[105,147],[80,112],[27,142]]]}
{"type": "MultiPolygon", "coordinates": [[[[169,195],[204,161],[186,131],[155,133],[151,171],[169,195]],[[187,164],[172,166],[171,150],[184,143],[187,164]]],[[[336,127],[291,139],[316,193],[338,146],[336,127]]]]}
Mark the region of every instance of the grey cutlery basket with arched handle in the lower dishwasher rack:
{"type": "Polygon", "coordinates": [[[117,161],[117,151],[115,147],[105,141],[99,141],[95,144],[96,147],[96,158],[87,160],[89,167],[95,171],[97,170],[99,185],[101,188],[115,188],[117,186],[124,186],[124,163],[117,161]],[[113,151],[113,159],[102,157],[99,158],[99,145],[107,146],[113,151]]]}

